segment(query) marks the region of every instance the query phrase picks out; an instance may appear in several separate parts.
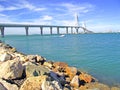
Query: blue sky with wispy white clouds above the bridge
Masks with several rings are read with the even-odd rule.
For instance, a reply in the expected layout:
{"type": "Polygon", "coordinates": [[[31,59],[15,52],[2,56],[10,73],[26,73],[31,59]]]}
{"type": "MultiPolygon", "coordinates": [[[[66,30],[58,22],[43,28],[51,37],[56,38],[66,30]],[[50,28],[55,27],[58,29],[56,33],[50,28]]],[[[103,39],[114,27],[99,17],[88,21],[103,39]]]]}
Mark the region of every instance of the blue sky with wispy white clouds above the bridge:
{"type": "Polygon", "coordinates": [[[94,32],[120,31],[120,0],[0,0],[0,23],[86,23],[94,32]]]}

